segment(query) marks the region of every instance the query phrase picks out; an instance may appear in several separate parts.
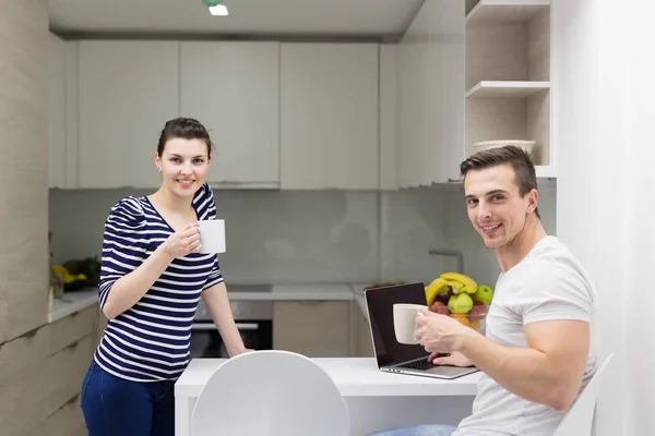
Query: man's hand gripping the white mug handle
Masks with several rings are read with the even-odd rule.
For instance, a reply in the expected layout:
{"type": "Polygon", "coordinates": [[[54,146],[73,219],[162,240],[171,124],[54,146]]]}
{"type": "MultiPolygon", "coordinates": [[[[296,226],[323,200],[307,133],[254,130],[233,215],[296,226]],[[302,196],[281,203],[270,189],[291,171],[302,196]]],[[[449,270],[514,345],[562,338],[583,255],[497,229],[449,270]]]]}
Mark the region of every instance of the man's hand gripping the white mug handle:
{"type": "Polygon", "coordinates": [[[419,340],[426,351],[451,353],[458,351],[466,335],[475,332],[458,320],[446,315],[422,310],[416,318],[420,326],[414,337],[419,340]]]}

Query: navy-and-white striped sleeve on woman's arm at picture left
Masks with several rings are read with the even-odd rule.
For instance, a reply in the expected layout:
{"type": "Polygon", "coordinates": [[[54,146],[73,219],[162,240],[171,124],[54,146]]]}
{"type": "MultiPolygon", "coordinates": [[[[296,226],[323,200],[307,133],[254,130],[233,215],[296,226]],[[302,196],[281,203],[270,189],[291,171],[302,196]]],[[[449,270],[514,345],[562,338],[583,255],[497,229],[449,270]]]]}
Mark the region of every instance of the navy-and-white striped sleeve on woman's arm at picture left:
{"type": "Polygon", "coordinates": [[[136,269],[147,250],[147,222],[141,203],[134,197],[118,202],[105,221],[103,259],[98,283],[104,308],[116,280],[136,269]]]}

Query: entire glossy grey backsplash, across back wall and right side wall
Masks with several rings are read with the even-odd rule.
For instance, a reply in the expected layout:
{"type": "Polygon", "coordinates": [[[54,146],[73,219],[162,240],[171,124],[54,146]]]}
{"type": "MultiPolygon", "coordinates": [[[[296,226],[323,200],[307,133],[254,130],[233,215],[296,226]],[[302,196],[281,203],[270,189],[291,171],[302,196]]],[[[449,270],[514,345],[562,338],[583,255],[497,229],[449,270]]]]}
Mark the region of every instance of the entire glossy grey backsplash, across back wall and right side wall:
{"type": "MultiPolygon", "coordinates": [[[[541,187],[541,186],[540,186],[541,187]]],[[[142,190],[50,191],[53,261],[99,255],[111,206],[142,190]]],[[[473,230],[461,185],[400,192],[214,191],[226,221],[226,281],[240,283],[429,281],[455,261],[430,249],[456,249],[464,270],[493,284],[498,266],[473,230]]],[[[555,233],[555,189],[539,210],[555,233]]]]}

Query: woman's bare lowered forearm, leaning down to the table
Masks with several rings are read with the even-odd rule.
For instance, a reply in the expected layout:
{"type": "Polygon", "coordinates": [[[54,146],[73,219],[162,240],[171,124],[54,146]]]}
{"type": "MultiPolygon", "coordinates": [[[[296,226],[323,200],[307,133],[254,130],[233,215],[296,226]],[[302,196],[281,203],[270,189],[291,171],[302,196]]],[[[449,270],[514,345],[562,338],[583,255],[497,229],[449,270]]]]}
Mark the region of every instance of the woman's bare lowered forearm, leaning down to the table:
{"type": "Polygon", "coordinates": [[[203,300],[212,314],[212,319],[216,324],[228,354],[231,356],[241,353],[245,349],[243,340],[235,324],[225,283],[221,282],[206,289],[203,292],[203,300]]]}

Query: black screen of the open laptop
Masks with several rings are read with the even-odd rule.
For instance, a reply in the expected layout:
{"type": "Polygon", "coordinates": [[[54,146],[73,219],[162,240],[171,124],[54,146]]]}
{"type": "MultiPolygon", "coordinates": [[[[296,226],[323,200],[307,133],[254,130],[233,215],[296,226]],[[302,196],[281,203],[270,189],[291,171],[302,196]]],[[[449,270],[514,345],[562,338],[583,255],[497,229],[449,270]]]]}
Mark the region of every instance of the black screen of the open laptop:
{"type": "Polygon", "coordinates": [[[393,328],[393,305],[395,303],[427,305],[424,283],[396,284],[367,290],[366,303],[379,366],[406,362],[428,354],[420,343],[397,342],[393,328]]]}

